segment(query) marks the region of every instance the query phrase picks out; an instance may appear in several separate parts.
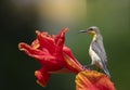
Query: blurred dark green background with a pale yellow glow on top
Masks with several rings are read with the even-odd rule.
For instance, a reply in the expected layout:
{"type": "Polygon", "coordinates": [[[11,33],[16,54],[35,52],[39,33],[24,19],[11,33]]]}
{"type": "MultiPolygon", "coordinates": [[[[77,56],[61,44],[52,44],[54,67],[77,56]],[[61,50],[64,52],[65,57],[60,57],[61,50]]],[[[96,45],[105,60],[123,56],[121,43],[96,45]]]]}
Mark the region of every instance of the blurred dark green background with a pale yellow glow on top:
{"type": "Polygon", "coordinates": [[[66,46],[82,64],[89,64],[91,36],[78,30],[99,26],[104,37],[112,80],[117,90],[130,90],[130,0],[1,0],[0,90],[75,90],[75,75],[52,75],[47,88],[36,83],[41,66],[18,51],[30,43],[36,29],[57,34],[63,27],[66,46]]]}

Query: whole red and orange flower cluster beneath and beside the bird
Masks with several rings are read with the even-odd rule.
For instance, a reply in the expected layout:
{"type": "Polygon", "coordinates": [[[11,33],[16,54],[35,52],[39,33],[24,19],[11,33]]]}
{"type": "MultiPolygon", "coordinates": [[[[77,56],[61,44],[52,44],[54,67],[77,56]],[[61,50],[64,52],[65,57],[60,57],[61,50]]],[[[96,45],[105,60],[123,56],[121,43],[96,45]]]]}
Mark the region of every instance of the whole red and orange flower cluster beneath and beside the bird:
{"type": "Polygon", "coordinates": [[[24,42],[18,44],[21,51],[42,66],[35,72],[37,82],[46,87],[52,74],[69,72],[76,74],[76,90],[116,90],[105,74],[87,69],[77,61],[72,50],[64,44],[66,31],[68,28],[63,28],[54,36],[37,30],[37,38],[30,46],[24,42]]]}

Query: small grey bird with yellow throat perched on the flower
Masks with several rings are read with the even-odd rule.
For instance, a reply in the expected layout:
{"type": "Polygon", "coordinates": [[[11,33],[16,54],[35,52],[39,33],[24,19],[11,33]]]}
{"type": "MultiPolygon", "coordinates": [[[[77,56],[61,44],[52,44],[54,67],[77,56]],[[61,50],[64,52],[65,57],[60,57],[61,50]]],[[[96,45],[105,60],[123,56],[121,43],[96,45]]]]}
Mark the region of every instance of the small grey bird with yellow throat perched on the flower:
{"type": "Polygon", "coordinates": [[[100,28],[98,26],[91,26],[87,30],[80,30],[79,33],[87,33],[93,36],[89,48],[89,55],[92,60],[90,66],[98,66],[100,69],[104,70],[104,73],[110,78],[107,56],[100,28]]]}

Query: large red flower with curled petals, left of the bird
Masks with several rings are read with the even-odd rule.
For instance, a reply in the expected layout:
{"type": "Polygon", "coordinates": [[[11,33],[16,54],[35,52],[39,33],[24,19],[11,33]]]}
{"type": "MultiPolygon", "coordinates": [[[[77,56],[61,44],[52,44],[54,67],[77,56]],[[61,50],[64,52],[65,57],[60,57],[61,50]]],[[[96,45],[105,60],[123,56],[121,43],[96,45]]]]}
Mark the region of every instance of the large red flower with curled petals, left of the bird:
{"type": "Polygon", "coordinates": [[[66,72],[64,68],[73,73],[82,69],[82,65],[75,59],[70,49],[64,46],[67,30],[68,28],[64,28],[56,36],[37,30],[37,39],[31,46],[24,42],[18,44],[20,50],[35,57],[42,65],[39,70],[35,72],[35,76],[38,78],[37,82],[43,87],[47,86],[52,73],[66,72]]]}

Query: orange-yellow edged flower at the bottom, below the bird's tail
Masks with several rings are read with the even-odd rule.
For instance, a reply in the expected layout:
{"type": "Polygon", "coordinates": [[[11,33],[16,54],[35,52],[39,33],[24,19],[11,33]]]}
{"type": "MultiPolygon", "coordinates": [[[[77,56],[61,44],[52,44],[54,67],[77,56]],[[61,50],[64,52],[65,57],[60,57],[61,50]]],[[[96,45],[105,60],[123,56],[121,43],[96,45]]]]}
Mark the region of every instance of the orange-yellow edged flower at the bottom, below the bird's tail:
{"type": "Polygon", "coordinates": [[[76,90],[116,90],[106,75],[95,70],[80,72],[75,81],[76,90]]]}

